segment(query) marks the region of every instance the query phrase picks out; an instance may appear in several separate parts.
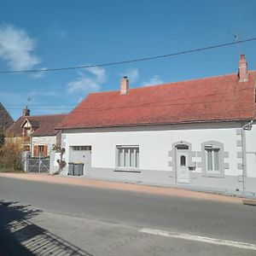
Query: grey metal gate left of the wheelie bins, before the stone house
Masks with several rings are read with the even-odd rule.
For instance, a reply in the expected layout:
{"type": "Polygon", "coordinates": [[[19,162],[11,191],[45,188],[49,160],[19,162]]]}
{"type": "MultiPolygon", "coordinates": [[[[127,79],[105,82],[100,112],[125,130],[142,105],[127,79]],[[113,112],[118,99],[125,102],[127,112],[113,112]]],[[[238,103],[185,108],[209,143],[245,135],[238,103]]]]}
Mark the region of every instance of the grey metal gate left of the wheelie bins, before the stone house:
{"type": "Polygon", "coordinates": [[[49,172],[49,157],[29,157],[27,172],[49,172]]]}

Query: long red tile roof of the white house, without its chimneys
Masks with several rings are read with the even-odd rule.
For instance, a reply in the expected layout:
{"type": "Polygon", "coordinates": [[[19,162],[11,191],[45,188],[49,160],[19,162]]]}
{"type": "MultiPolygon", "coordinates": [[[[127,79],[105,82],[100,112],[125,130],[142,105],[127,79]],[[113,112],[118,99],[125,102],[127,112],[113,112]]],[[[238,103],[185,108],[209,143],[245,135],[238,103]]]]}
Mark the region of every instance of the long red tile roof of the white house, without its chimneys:
{"type": "Polygon", "coordinates": [[[237,74],[92,93],[57,126],[58,129],[127,125],[180,124],[253,119],[256,71],[247,82],[237,74]]]}

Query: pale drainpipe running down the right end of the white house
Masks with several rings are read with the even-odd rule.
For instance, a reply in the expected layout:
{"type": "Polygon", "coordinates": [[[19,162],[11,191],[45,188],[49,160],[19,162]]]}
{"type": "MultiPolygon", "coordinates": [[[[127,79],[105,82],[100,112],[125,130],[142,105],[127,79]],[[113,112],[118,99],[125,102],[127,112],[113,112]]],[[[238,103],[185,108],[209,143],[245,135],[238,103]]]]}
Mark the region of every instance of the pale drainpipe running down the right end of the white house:
{"type": "Polygon", "coordinates": [[[246,125],[241,126],[241,154],[242,154],[242,196],[244,196],[246,189],[246,177],[247,177],[247,143],[246,143],[246,132],[252,130],[253,120],[246,125]]]}

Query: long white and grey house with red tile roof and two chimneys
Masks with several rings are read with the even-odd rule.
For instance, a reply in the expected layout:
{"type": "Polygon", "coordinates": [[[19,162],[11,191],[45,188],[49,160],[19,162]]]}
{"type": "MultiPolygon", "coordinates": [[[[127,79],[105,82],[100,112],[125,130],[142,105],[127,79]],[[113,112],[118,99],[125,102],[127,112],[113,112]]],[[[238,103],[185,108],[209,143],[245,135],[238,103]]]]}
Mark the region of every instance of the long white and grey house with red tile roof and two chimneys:
{"type": "MultiPolygon", "coordinates": [[[[83,175],[256,195],[256,71],[92,93],[56,129],[83,175]]],[[[69,172],[68,166],[64,174],[69,172]]]]}

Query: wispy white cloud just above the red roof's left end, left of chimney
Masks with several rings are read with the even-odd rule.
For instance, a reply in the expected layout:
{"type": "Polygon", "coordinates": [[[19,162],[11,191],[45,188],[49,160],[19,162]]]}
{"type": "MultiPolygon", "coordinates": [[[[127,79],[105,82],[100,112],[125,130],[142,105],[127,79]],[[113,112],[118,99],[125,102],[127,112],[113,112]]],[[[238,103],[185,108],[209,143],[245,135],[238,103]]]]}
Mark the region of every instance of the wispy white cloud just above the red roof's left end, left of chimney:
{"type": "Polygon", "coordinates": [[[68,93],[92,92],[100,90],[102,84],[107,81],[106,69],[103,67],[84,68],[79,72],[79,78],[67,84],[68,93]]]}

